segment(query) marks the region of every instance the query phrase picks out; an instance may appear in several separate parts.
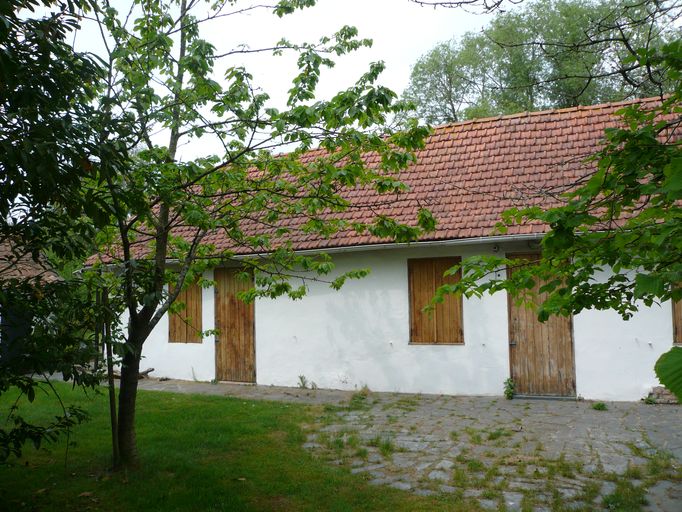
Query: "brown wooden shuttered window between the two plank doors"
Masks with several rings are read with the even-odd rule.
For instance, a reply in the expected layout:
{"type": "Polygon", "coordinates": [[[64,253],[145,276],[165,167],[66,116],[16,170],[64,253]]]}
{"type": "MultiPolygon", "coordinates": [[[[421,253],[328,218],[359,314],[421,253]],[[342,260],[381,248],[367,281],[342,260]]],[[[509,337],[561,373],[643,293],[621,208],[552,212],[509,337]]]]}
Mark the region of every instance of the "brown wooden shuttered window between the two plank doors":
{"type": "Polygon", "coordinates": [[[410,343],[463,344],[462,298],[448,295],[431,313],[422,311],[446,283],[459,280],[459,274],[444,277],[443,273],[459,264],[460,258],[421,258],[407,260],[410,294],[410,343]]]}

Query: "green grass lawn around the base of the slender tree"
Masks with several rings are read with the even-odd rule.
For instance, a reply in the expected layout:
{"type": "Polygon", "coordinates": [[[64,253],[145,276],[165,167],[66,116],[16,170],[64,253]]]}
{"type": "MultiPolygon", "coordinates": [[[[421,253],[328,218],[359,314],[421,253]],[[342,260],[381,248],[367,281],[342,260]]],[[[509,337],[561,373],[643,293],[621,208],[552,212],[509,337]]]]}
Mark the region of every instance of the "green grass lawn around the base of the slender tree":
{"type": "MultiPolygon", "coordinates": [[[[92,420],[65,439],[0,465],[0,511],[121,510],[457,510],[446,498],[369,485],[301,448],[313,409],[283,403],[141,391],[141,468],[111,473],[108,401],[58,386],[92,420]]],[[[7,416],[14,393],[0,397],[7,416]]],[[[22,403],[25,418],[47,420],[53,398],[22,403]]]]}

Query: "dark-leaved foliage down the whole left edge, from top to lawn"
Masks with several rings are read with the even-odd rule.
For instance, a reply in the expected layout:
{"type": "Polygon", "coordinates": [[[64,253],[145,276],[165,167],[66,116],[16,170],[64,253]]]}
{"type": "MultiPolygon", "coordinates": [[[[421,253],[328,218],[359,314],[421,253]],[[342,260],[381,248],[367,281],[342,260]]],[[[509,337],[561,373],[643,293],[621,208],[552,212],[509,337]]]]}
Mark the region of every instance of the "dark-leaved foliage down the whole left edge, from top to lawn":
{"type": "MultiPolygon", "coordinates": [[[[51,281],[17,272],[37,267],[46,253],[83,258],[93,247],[92,219],[106,208],[80,188],[105,148],[95,143],[92,103],[102,68],[68,41],[88,7],[87,0],[0,4],[0,393],[18,388],[29,401],[39,389],[54,391],[55,373],[74,385],[97,384],[89,368],[96,311],[80,280],[70,272],[51,281]],[[7,332],[10,312],[21,313],[27,327],[7,332]]],[[[13,407],[0,427],[0,460],[83,419],[81,410],[64,405],[50,425],[32,424],[13,407]]]]}

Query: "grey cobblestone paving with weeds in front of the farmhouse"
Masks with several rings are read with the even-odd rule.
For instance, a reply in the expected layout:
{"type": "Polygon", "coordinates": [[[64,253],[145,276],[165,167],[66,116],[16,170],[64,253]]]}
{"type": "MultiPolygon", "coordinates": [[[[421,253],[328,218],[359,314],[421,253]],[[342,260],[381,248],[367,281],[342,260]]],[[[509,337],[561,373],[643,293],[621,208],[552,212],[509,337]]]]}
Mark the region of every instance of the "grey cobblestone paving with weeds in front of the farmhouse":
{"type": "Polygon", "coordinates": [[[679,406],[140,384],[313,404],[304,448],[316,457],[471,510],[682,511],[679,406]]]}

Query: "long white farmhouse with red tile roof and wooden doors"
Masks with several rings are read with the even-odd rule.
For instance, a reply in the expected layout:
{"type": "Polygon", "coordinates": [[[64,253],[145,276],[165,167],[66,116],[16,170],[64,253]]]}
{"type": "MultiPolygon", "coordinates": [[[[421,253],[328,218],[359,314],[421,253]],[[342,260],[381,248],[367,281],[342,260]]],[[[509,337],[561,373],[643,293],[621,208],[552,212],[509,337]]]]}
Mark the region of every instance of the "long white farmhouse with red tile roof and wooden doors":
{"type": "Polygon", "coordinates": [[[235,298],[248,286],[235,279],[236,268],[215,268],[205,274],[214,288],[188,288],[180,297],[186,311],[159,322],[143,364],[156,368],[156,376],[179,379],[296,386],[303,376],[322,388],[464,395],[500,395],[511,376],[528,395],[642,398],[658,385],[656,359],[682,342],[682,308],[669,302],[642,307],[627,322],[613,312],[585,311],[540,324],[503,293],[450,297],[432,316],[421,312],[444,282],[443,271],[461,258],[537,253],[545,228],[516,226],[495,236],[500,214],[545,204],[590,172],[585,158],[622,106],[436,128],[418,162],[401,175],[409,192],[350,194],[358,202],[375,200],[372,214],[404,222],[429,208],[438,220],[435,232],[412,244],[353,232],[332,239],[300,233],[293,238],[297,250],[327,252],[339,272],[369,267],[371,273],[338,292],[310,283],[297,301],[246,305],[235,298]],[[197,334],[214,329],[217,334],[197,334]]]}

